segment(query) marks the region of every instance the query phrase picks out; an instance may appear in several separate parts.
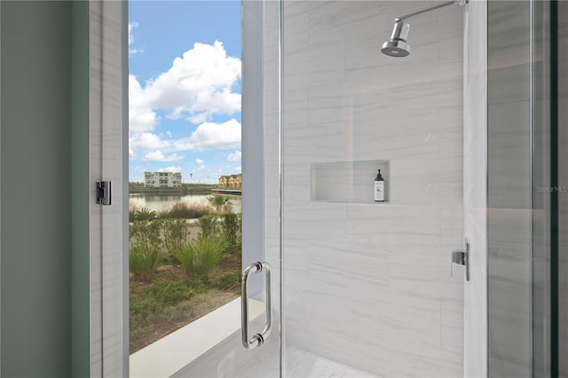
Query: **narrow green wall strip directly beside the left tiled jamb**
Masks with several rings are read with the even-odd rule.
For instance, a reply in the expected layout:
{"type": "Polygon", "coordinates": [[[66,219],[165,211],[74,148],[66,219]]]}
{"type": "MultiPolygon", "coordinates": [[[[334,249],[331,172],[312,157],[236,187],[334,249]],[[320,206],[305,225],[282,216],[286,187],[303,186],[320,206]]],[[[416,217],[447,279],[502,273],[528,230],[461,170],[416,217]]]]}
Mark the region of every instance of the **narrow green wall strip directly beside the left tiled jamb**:
{"type": "Polygon", "coordinates": [[[89,3],[72,9],[71,298],[73,377],[90,374],[89,353],[89,3]]]}

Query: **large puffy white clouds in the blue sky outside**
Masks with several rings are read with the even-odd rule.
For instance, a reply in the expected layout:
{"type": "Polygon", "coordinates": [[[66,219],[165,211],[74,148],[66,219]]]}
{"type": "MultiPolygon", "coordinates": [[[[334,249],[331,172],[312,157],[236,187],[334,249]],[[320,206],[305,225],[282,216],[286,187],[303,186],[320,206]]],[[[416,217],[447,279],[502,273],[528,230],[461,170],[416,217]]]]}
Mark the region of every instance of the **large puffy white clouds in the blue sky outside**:
{"type": "MultiPolygon", "coordinates": [[[[129,24],[129,45],[134,43],[132,31],[137,27],[137,22],[129,24]]],[[[227,56],[219,41],[194,43],[192,49],[174,59],[170,69],[146,83],[129,75],[130,158],[175,161],[183,157],[171,154],[173,151],[239,148],[240,122],[209,121],[214,114],[241,112],[241,93],[234,91],[240,79],[241,59],[227,56]],[[157,132],[160,114],[199,126],[191,136],[174,140],[170,130],[157,132]]]]}

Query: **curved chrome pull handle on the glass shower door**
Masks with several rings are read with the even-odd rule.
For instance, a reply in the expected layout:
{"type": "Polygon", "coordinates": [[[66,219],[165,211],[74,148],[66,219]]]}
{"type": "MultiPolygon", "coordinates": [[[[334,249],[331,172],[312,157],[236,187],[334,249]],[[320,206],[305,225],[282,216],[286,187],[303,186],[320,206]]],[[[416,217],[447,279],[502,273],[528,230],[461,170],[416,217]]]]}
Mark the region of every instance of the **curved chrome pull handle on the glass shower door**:
{"type": "Polygon", "coordinates": [[[272,301],[271,301],[271,267],[268,263],[257,262],[251,264],[242,272],[241,280],[241,325],[242,325],[242,346],[246,349],[253,349],[261,346],[264,339],[270,335],[272,329],[272,301]],[[264,306],[266,321],[264,329],[260,334],[252,337],[248,336],[248,277],[251,273],[264,271],[264,306]]]}

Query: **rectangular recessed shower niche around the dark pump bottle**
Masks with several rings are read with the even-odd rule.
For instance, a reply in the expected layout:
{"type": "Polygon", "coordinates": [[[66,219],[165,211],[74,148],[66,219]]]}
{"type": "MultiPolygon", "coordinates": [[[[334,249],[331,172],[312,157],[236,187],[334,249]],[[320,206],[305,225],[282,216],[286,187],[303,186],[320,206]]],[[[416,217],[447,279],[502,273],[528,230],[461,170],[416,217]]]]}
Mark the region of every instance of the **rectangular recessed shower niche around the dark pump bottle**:
{"type": "Polygon", "coordinates": [[[341,161],[312,164],[312,201],[389,203],[390,161],[341,161]],[[378,169],[384,179],[384,201],[375,202],[378,169]]]}

